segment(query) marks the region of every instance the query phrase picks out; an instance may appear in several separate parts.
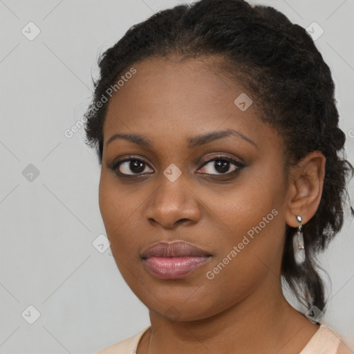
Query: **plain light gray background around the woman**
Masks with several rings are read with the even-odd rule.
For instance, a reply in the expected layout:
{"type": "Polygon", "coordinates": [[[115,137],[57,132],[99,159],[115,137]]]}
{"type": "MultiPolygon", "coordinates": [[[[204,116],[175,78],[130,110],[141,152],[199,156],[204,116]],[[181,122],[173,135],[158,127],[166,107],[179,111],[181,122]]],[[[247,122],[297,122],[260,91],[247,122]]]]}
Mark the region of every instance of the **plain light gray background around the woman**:
{"type": "MultiPolygon", "coordinates": [[[[0,353],[95,353],[149,326],[111,250],[92,245],[105,234],[95,152],[84,145],[83,128],[73,138],[64,131],[90,102],[98,55],[133,24],[183,2],[0,0],[0,353]],[[41,31],[32,41],[21,32],[30,21],[41,31]],[[22,174],[29,164],[39,170],[32,181],[22,174]],[[33,324],[24,319],[35,313],[30,305],[40,313],[33,324]]],[[[252,3],[324,28],[316,44],[333,72],[353,163],[354,1],[252,3]]],[[[349,191],[353,200],[353,183],[349,191]]],[[[352,350],[353,230],[347,222],[322,257],[333,283],[322,323],[352,350]]]]}

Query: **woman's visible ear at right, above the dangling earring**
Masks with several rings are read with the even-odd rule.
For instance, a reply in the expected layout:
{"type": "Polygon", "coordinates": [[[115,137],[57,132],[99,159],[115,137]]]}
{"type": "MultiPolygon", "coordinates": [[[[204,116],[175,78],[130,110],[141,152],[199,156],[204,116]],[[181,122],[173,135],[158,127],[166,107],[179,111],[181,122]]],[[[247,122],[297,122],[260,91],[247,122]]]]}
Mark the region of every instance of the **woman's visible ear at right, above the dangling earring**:
{"type": "Polygon", "coordinates": [[[289,171],[286,223],[297,227],[301,216],[306,224],[315,215],[322,197],[326,158],[320,151],[308,153],[289,171]]]}

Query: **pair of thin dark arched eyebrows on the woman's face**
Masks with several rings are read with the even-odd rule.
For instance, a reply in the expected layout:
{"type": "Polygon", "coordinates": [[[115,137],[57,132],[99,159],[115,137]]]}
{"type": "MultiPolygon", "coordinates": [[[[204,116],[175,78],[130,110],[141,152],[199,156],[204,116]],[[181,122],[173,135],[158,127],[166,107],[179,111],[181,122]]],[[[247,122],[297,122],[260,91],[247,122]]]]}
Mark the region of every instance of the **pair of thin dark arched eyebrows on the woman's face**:
{"type": "MultiPolygon", "coordinates": [[[[236,131],[233,129],[226,129],[223,131],[212,131],[210,133],[205,133],[205,134],[201,134],[199,136],[194,136],[193,138],[187,138],[187,146],[189,147],[189,149],[193,149],[195,147],[205,145],[209,142],[212,142],[214,140],[218,140],[221,138],[225,138],[227,136],[237,136],[247,142],[250,142],[250,144],[257,147],[257,144],[253,140],[251,140],[247,136],[244,136],[243,133],[240,133],[239,131],[236,131]]],[[[133,142],[134,144],[137,144],[142,147],[149,148],[149,149],[151,149],[153,147],[153,142],[149,138],[147,138],[147,136],[142,136],[142,135],[138,135],[138,134],[124,134],[124,133],[114,134],[113,136],[111,136],[111,138],[109,138],[109,140],[107,140],[106,145],[109,145],[113,140],[117,140],[117,139],[128,140],[130,142],[133,142]]]]}

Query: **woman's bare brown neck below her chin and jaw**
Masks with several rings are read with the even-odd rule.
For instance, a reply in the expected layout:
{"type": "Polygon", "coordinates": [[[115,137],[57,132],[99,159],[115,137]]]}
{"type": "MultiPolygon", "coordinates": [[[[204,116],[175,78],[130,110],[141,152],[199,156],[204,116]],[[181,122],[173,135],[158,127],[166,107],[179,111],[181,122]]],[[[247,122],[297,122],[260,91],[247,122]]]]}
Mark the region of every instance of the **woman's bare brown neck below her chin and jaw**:
{"type": "Polygon", "coordinates": [[[150,337],[138,354],[299,353],[318,326],[288,304],[280,282],[270,285],[206,319],[171,321],[150,311],[150,337]]]}

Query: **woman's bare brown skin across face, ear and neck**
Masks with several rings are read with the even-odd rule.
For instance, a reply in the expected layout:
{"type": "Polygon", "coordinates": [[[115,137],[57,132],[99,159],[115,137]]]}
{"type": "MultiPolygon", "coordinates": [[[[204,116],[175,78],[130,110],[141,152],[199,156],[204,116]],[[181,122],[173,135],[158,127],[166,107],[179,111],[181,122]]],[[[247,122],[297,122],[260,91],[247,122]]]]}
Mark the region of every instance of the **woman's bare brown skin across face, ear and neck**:
{"type": "MultiPolygon", "coordinates": [[[[255,104],[246,111],[234,104],[244,88],[213,63],[210,57],[145,59],[109,102],[100,211],[122,277],[149,308],[151,329],[137,353],[299,353],[319,326],[283,297],[281,257],[286,225],[297,227],[297,215],[307,223],[317,210],[325,158],[314,151],[286,174],[281,136],[258,118],[255,104]],[[252,142],[227,136],[193,149],[185,142],[225,129],[252,142]],[[124,139],[107,145],[116,133],[144,135],[153,147],[124,139]],[[129,162],[119,169],[130,180],[107,167],[131,155],[147,164],[144,177],[129,162]],[[226,178],[207,162],[218,155],[245,167],[226,178]],[[182,172],[174,182],[163,174],[171,163],[182,172]],[[277,216],[209,280],[206,273],[273,209],[277,216]],[[140,252],[174,240],[194,243],[212,257],[182,279],[153,277],[140,252]]],[[[234,169],[230,163],[225,171],[234,169]]]]}

